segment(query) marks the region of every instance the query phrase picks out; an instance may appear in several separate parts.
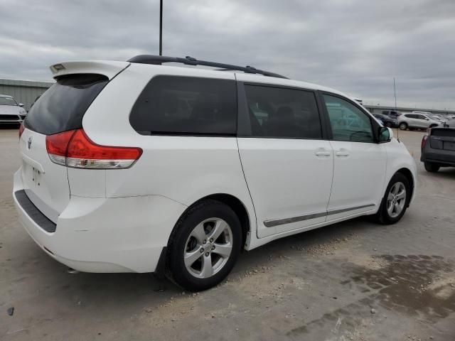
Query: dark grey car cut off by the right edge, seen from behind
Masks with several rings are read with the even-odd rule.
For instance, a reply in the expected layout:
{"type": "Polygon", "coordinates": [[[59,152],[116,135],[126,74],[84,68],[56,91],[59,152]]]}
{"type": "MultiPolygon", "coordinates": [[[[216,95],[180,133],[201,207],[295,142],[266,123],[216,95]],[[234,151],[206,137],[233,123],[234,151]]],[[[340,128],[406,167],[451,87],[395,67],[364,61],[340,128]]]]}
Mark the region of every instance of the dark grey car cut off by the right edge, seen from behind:
{"type": "Polygon", "coordinates": [[[455,119],[428,129],[422,138],[420,161],[429,172],[441,167],[455,167],[455,119]]]}

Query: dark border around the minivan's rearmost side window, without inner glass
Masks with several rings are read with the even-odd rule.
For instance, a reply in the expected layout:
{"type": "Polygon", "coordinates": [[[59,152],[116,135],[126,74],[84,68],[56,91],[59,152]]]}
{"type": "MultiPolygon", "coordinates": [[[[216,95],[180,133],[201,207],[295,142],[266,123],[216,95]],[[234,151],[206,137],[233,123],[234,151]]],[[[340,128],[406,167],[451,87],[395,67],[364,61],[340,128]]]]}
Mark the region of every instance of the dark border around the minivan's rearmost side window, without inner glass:
{"type": "Polygon", "coordinates": [[[238,121],[239,121],[239,99],[238,99],[238,85],[237,85],[237,80],[235,79],[228,79],[228,78],[218,78],[218,77],[200,77],[200,76],[194,76],[194,75],[168,75],[165,73],[159,73],[154,75],[153,77],[150,78],[150,80],[146,83],[144,88],[142,88],[141,92],[137,96],[137,98],[134,100],[134,104],[129,111],[128,115],[128,123],[131,128],[136,131],[137,134],[141,136],[176,136],[176,137],[237,137],[237,131],[238,131],[238,121]],[[137,130],[134,128],[134,126],[131,123],[131,115],[133,113],[134,105],[137,103],[137,100],[139,97],[141,97],[141,94],[144,93],[146,90],[146,87],[149,86],[149,84],[152,82],[157,77],[186,77],[186,78],[198,78],[198,79],[208,79],[208,80],[229,80],[230,82],[234,82],[235,84],[235,129],[233,133],[196,133],[196,132],[177,132],[177,131],[146,131],[146,130],[137,130]]]}

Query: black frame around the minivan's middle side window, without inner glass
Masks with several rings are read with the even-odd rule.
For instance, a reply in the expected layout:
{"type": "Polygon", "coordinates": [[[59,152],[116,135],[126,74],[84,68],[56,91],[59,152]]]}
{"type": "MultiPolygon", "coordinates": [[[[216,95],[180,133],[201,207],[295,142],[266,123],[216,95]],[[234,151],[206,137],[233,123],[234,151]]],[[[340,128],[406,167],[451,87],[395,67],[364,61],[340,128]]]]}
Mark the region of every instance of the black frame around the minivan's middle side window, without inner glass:
{"type": "Polygon", "coordinates": [[[271,83],[264,83],[264,82],[243,82],[237,80],[237,100],[238,100],[238,119],[237,119],[237,137],[241,137],[244,139],[284,139],[284,140],[326,140],[328,139],[328,131],[326,127],[326,119],[321,110],[321,99],[317,94],[317,90],[314,89],[306,89],[304,87],[293,87],[288,85],[276,85],[271,83]],[[318,111],[319,122],[321,124],[321,137],[314,139],[309,137],[279,137],[279,136],[253,136],[251,130],[251,122],[250,122],[250,114],[248,109],[248,102],[247,102],[247,92],[245,90],[245,85],[252,85],[257,87],[272,87],[277,89],[284,89],[284,90],[299,90],[305,92],[311,92],[314,95],[314,99],[316,101],[316,109],[318,111]]]}

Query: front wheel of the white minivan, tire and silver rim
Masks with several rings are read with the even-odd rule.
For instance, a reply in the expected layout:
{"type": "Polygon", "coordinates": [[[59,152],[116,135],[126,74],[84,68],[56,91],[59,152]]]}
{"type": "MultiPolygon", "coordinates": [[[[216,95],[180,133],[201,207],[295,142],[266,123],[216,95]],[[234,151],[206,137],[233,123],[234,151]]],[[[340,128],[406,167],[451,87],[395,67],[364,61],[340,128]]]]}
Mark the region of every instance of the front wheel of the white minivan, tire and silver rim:
{"type": "Polygon", "coordinates": [[[410,182],[407,180],[405,175],[402,173],[395,173],[395,175],[392,176],[392,179],[390,179],[389,185],[387,185],[387,189],[385,190],[385,195],[382,197],[381,205],[379,207],[378,213],[374,216],[375,220],[379,222],[380,224],[395,224],[395,222],[400,221],[403,215],[405,215],[405,212],[407,210],[407,205],[409,205],[410,202],[410,195],[411,195],[411,187],[410,187],[410,182]],[[397,187],[395,187],[397,186],[397,187]],[[402,189],[405,190],[405,197],[402,199],[397,199],[397,201],[390,200],[391,197],[389,197],[391,191],[395,191],[394,197],[401,197],[400,193],[402,192],[402,189]],[[397,202],[398,207],[400,207],[400,210],[398,211],[396,208],[397,207],[392,207],[392,212],[390,211],[390,202],[397,202]]]}

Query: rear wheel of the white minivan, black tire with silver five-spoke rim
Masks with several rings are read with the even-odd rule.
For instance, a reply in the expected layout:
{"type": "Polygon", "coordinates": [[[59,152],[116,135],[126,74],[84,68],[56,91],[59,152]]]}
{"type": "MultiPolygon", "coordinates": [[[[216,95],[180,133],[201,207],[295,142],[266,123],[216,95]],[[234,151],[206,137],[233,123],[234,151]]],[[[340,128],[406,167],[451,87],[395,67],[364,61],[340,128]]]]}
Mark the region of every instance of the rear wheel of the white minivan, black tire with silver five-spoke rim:
{"type": "Polygon", "coordinates": [[[206,290],[228,276],[241,248],[242,227],[235,212],[223,202],[203,200],[182,215],[171,233],[166,276],[188,291],[206,290]],[[212,240],[215,228],[220,234],[212,240]]]}

